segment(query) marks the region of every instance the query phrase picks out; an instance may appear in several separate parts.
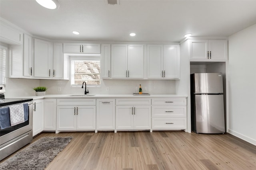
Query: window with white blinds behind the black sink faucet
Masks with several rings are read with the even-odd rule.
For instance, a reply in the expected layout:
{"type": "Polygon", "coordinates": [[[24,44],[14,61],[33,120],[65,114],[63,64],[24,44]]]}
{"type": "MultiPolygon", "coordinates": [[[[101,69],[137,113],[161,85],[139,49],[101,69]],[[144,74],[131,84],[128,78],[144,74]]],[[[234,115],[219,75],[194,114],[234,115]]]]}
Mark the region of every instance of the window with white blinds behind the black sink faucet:
{"type": "Polygon", "coordinates": [[[100,57],[75,57],[71,59],[71,86],[100,85],[100,57]]]}

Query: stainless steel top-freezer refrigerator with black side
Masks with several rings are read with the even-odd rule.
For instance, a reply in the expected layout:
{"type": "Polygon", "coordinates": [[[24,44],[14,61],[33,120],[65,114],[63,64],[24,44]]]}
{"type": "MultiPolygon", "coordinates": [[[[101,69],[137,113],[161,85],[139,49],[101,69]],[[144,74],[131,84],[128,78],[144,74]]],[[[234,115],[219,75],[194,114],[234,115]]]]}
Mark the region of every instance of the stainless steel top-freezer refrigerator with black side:
{"type": "Polygon", "coordinates": [[[225,133],[222,74],[191,74],[190,88],[192,131],[225,133]]]}

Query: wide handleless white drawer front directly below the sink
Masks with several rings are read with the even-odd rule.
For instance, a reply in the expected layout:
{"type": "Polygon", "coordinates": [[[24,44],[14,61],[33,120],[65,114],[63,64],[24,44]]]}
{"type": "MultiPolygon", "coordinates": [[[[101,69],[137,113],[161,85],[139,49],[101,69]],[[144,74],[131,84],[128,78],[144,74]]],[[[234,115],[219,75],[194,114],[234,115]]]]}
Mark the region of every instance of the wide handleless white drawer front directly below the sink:
{"type": "Polygon", "coordinates": [[[73,99],[58,99],[58,106],[85,106],[85,105],[96,105],[96,99],[81,99],[81,98],[73,98],[73,99]]]}

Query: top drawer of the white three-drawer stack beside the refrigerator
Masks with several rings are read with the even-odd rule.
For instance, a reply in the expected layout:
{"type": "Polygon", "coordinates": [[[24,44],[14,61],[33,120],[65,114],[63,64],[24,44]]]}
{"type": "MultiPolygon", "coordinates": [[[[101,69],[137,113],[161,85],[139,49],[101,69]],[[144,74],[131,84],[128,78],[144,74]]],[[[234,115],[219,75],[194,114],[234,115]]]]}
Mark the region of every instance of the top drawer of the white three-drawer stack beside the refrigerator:
{"type": "Polygon", "coordinates": [[[152,105],[186,105],[186,98],[155,98],[152,105]]]}

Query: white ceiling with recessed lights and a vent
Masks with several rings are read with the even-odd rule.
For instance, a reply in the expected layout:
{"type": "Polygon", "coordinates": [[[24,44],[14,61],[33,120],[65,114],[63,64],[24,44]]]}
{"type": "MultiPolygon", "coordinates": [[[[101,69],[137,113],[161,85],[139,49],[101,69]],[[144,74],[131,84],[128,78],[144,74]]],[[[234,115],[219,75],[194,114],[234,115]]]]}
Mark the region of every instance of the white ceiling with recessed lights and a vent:
{"type": "Polygon", "coordinates": [[[0,0],[0,17],[37,37],[102,42],[180,42],[186,33],[227,37],[256,24],[256,0],[58,1],[60,8],[49,10],[35,0],[0,0]]]}

